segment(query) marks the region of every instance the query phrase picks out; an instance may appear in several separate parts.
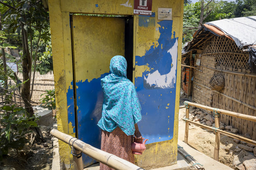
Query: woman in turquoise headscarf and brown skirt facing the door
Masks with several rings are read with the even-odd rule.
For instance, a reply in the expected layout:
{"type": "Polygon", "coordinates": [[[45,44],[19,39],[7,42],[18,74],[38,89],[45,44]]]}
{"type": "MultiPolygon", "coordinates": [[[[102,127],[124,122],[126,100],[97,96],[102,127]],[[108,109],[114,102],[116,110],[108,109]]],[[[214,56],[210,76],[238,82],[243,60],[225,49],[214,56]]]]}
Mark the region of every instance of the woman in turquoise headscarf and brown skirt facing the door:
{"type": "MultiPolygon", "coordinates": [[[[132,136],[142,142],[137,123],[141,120],[140,102],[135,86],[126,78],[126,59],[114,56],[108,76],[101,79],[104,101],[98,126],[102,129],[101,150],[134,163],[131,151],[132,136]]],[[[100,164],[100,170],[110,170],[100,164]]]]}

